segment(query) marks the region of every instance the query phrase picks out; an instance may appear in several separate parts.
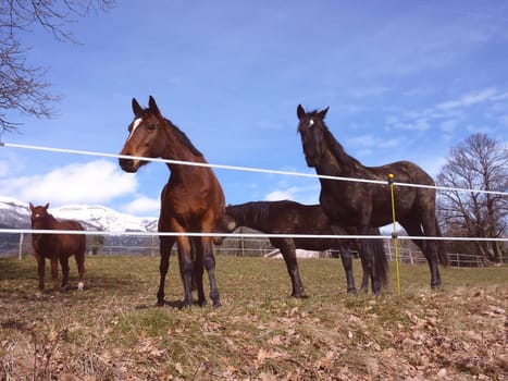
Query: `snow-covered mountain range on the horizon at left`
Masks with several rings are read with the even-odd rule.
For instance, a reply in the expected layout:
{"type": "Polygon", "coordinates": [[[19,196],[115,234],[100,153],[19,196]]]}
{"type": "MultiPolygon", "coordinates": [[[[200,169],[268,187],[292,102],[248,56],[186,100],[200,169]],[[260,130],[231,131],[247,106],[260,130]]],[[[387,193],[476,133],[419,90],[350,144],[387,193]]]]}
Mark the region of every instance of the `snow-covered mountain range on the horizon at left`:
{"type": "MultiPolygon", "coordinates": [[[[52,208],[50,205],[49,212],[57,219],[77,220],[89,231],[157,232],[157,218],[125,214],[103,206],[73,205],[52,208]]],[[[28,204],[0,197],[0,226],[29,228],[28,204]]]]}

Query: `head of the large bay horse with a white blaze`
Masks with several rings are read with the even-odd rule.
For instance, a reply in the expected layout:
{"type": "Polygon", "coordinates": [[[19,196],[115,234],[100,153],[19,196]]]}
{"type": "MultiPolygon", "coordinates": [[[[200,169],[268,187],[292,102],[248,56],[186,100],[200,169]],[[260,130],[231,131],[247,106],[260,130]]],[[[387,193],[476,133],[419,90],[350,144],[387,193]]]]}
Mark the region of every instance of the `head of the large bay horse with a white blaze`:
{"type": "MultiPolygon", "coordinates": [[[[134,157],[159,158],[162,156],[161,135],[164,118],[161,115],[156,100],[150,96],[148,109],[143,109],[137,100],[133,98],[134,120],[128,125],[128,137],[120,155],[134,157]]],[[[119,159],[120,167],[125,172],[136,172],[139,167],[148,161],[137,158],[119,159]]]]}

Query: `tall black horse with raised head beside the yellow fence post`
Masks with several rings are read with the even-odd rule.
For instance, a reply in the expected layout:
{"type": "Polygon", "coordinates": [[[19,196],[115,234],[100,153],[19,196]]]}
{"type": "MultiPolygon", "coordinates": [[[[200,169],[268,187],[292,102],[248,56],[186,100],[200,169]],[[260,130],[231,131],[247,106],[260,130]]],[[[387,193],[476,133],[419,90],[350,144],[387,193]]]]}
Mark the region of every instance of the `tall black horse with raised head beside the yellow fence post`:
{"type": "MultiPolygon", "coordinates": [[[[392,200],[388,175],[395,175],[400,183],[434,185],[432,177],[417,164],[397,161],[382,167],[364,167],[357,159],[346,153],[343,146],[334,138],[324,118],[329,108],[321,111],[306,112],[299,105],[298,132],[307,165],[315,168],[318,174],[386,181],[386,185],[351,182],[320,177],[320,205],[332,221],[335,234],[343,234],[344,225],[354,225],[361,234],[368,234],[369,226],[383,226],[392,220],[392,200]]],[[[441,236],[435,216],[435,189],[428,187],[400,186],[395,193],[396,219],[412,236],[441,236]]],[[[372,243],[362,239],[367,256],[371,256],[372,243]]],[[[414,239],[431,269],[431,286],[441,285],[437,259],[444,266],[448,257],[442,241],[414,239]]],[[[375,292],[375,290],[374,290],[375,292]]]]}

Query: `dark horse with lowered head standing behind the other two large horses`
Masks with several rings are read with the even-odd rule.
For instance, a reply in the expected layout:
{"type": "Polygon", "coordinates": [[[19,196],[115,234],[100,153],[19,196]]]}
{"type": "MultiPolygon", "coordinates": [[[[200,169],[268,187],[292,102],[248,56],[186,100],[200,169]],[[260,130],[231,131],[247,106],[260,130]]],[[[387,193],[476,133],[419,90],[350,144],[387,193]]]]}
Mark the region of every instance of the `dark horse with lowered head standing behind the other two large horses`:
{"type": "MultiPolygon", "coordinates": [[[[228,220],[227,230],[234,231],[238,226],[247,226],[268,234],[321,234],[333,235],[330,221],[323,213],[319,205],[302,205],[295,201],[255,201],[241,205],[230,205],[226,207],[226,218],[228,220]]],[[[356,233],[356,231],[349,231],[356,233]]],[[[371,234],[379,235],[377,229],[372,229],[371,234]]],[[[340,258],[346,272],[347,292],[356,293],[355,279],[352,275],[351,256],[347,246],[355,244],[359,248],[362,258],[363,279],[361,290],[367,292],[369,283],[368,265],[363,262],[361,247],[356,239],[333,239],[333,238],[285,238],[270,237],[270,243],[281,250],[286,262],[287,272],[292,280],[292,296],[303,297],[303,284],[298,271],[296,259],[296,248],[308,250],[326,250],[337,248],[340,250],[340,258]]],[[[376,266],[375,274],[380,276],[379,282],[386,283],[387,260],[383,248],[383,243],[374,246],[376,266]]],[[[374,285],[374,280],[372,280],[374,285]]]]}

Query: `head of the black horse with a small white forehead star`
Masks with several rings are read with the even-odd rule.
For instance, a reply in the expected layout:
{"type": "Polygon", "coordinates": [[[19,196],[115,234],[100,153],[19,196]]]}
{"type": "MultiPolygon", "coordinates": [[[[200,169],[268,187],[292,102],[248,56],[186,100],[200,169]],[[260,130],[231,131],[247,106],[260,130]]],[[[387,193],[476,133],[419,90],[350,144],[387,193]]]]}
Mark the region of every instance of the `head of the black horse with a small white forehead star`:
{"type": "Polygon", "coordinates": [[[324,144],[324,116],[329,108],[321,111],[306,112],[301,105],[298,105],[296,114],[298,115],[298,132],[301,136],[301,145],[306,156],[307,165],[315,167],[321,161],[321,153],[324,144]]]}

